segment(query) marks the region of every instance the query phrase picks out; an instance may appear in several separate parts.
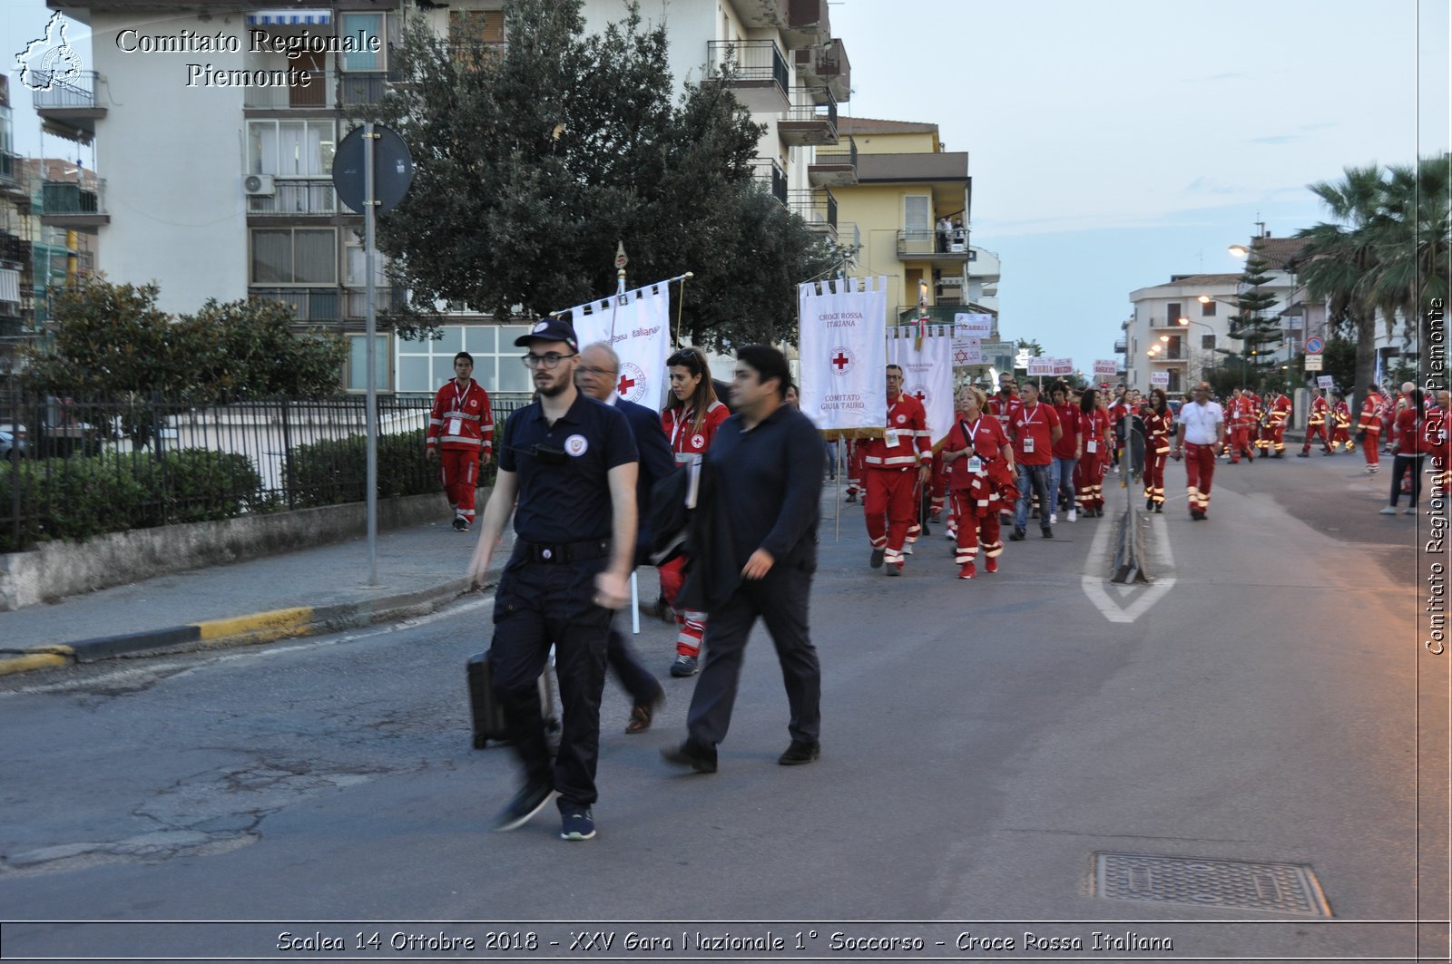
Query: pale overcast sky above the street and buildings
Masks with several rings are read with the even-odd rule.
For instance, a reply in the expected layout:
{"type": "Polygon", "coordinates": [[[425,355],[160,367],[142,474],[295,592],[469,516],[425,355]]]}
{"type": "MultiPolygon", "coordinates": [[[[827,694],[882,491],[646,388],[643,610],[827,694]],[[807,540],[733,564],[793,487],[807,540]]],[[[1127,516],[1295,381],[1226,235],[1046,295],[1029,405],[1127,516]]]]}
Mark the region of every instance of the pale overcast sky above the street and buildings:
{"type": "MultiPolygon", "coordinates": [[[[44,0],[0,7],[6,52],[48,19],[44,0]]],[[[1256,221],[1285,237],[1323,218],[1307,184],[1452,147],[1448,7],[841,0],[831,17],[852,64],[844,112],[934,122],[968,151],[973,242],[1003,260],[1005,337],[1088,369],[1112,357],[1131,290],[1237,271],[1225,248],[1256,221]]],[[[10,60],[16,150],[33,155],[17,87],[10,60]]],[[[45,150],[77,151],[54,136],[45,150]]]]}

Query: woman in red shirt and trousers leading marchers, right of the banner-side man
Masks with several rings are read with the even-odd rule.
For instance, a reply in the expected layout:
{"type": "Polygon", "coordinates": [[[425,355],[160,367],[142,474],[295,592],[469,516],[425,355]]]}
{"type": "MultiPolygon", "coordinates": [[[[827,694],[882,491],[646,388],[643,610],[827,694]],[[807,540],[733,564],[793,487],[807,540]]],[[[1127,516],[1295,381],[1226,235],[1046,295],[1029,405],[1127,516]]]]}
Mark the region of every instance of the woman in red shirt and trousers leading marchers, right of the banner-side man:
{"type": "Polygon", "coordinates": [[[999,537],[999,510],[1018,498],[1013,446],[1003,425],[984,414],[987,396],[971,385],[958,392],[958,417],[942,443],[942,463],[948,472],[948,491],[957,517],[958,578],[977,575],[973,559],[983,549],[983,571],[998,572],[1003,552],[999,537]]]}

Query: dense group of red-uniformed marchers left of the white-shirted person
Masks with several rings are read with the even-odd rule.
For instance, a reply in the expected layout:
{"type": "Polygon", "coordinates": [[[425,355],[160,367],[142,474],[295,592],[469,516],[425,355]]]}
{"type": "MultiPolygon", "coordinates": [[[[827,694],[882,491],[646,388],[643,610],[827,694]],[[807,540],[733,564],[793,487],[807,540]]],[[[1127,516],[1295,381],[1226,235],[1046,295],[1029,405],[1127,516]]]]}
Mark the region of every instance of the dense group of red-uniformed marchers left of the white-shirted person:
{"type": "Polygon", "coordinates": [[[980,553],[983,571],[998,572],[1005,526],[1008,540],[1021,542],[1037,518],[1041,537],[1053,539],[1060,512],[1070,523],[1104,515],[1104,481],[1124,444],[1143,443],[1134,473],[1143,475],[1146,508],[1163,511],[1173,421],[1162,389],[1111,399],[1054,382],[1045,399],[1038,385],[1021,389],[1005,375],[992,398],[976,385],[958,391],[935,453],[922,404],[902,392],[902,370],[890,364],[883,437],[857,440],[848,457],[847,501],[862,495],[868,565],[903,573],[926,501],[934,521],[948,512],[958,578],[977,576],[980,553]]]}

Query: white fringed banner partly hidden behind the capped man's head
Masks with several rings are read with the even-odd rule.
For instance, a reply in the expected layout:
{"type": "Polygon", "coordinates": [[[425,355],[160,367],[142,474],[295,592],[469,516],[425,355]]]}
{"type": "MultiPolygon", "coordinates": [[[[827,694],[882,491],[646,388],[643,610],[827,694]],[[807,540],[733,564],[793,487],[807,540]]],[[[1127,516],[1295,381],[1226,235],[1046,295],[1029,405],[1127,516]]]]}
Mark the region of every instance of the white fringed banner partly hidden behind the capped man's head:
{"type": "Polygon", "coordinates": [[[579,347],[607,341],[620,356],[616,391],[627,402],[659,409],[671,353],[671,286],[646,285],[569,309],[579,347]]]}

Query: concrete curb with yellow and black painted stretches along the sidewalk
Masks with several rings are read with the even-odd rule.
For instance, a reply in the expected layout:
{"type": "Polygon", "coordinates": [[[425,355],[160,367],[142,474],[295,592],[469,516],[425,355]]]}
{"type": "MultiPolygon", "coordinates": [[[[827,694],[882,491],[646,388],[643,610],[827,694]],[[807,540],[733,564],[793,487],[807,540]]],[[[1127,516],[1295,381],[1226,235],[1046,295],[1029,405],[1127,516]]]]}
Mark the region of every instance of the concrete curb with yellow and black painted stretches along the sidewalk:
{"type": "MultiPolygon", "coordinates": [[[[485,588],[488,589],[489,585],[492,582],[485,588]]],[[[428,589],[359,602],[270,610],[267,613],[168,626],[166,629],[126,633],[122,636],[97,636],[61,646],[0,649],[0,677],[32,669],[54,669],[139,653],[155,653],[160,650],[248,646],[302,636],[337,633],[359,626],[424,616],[452,602],[468,592],[468,579],[450,579],[428,589]]]]}

